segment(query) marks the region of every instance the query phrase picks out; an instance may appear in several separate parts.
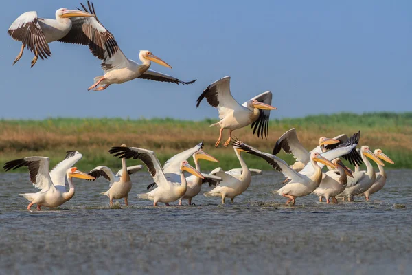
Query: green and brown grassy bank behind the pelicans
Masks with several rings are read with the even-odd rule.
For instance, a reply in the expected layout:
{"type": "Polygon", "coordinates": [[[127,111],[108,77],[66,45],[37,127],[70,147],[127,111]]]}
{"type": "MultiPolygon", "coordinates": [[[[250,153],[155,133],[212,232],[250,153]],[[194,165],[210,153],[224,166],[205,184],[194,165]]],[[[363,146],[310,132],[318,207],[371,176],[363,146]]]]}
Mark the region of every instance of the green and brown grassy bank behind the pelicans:
{"type": "MultiPolygon", "coordinates": [[[[76,150],[84,156],[77,164],[82,170],[90,170],[98,165],[119,168],[119,160],[107,153],[111,146],[126,144],[149,148],[157,153],[163,163],[172,155],[203,140],[204,150],[220,160],[219,166],[225,169],[237,168],[239,163],[233,149],[214,148],[218,129],[209,128],[209,125],[216,121],[193,122],[168,118],[0,120],[0,162],[3,164],[19,157],[42,155],[50,157],[54,165],[65,156],[65,151],[76,150]]],[[[367,144],[372,149],[381,148],[396,163],[388,164],[387,168],[412,168],[412,113],[337,113],[271,120],[268,140],[252,135],[249,127],[233,134],[251,146],[271,152],[277,138],[293,127],[297,129],[299,140],[306,148],[314,148],[322,135],[352,135],[361,130],[361,144],[367,144]]],[[[223,141],[226,139],[225,131],[223,141]]],[[[293,161],[290,155],[282,153],[279,157],[287,162],[293,161]]],[[[262,159],[251,155],[245,155],[244,158],[250,167],[271,169],[262,159]]],[[[137,164],[139,161],[132,160],[129,163],[137,164]]],[[[216,168],[216,164],[203,162],[202,168],[211,170],[216,168]]]]}

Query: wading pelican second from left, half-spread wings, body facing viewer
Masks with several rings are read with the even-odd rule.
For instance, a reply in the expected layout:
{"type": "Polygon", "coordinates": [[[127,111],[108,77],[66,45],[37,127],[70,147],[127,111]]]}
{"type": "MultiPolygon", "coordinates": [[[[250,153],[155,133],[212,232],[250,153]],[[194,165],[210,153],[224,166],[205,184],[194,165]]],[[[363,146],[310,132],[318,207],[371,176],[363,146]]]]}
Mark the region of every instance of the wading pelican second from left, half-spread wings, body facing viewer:
{"type": "MultiPolygon", "coordinates": [[[[125,144],[121,145],[126,147],[125,144]]],[[[100,193],[101,195],[106,195],[110,199],[110,206],[113,206],[113,199],[124,198],[124,203],[128,206],[128,193],[132,189],[132,181],[130,175],[136,173],[143,168],[142,165],[126,166],[126,159],[122,159],[122,169],[115,175],[111,168],[107,166],[98,166],[89,172],[89,175],[98,179],[98,177],[103,176],[110,182],[108,186],[109,189],[106,192],[100,193]]]]}

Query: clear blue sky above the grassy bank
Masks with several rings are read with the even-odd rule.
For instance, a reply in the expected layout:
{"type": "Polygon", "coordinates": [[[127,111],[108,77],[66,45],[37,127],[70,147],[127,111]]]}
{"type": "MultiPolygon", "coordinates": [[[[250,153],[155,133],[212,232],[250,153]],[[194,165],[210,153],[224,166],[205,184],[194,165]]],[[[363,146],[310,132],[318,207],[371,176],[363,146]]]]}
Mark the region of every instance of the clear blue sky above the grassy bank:
{"type": "Polygon", "coordinates": [[[155,69],[182,86],[133,80],[87,91],[102,74],[87,47],[50,44],[52,58],[12,66],[20,43],[6,31],[20,14],[54,18],[79,1],[2,1],[0,118],[216,118],[196,98],[223,76],[242,103],[273,92],[271,118],[350,111],[411,111],[412,1],[94,1],[130,59],[150,50],[155,69]]]}

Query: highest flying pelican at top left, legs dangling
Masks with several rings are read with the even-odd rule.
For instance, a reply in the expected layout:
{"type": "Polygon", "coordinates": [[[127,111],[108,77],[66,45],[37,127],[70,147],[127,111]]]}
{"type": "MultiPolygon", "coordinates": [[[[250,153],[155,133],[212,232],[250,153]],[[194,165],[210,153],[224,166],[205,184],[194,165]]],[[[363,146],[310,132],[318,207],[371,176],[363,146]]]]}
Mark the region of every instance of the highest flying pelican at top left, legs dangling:
{"type": "Polygon", "coordinates": [[[93,14],[81,10],[67,10],[60,8],[56,11],[56,19],[43,19],[37,17],[37,12],[25,12],[12,23],[8,29],[8,34],[12,39],[22,43],[19,55],[13,62],[13,65],[23,56],[25,47],[34,52],[32,67],[36,64],[38,56],[41,59],[52,56],[49,44],[53,41],[69,42],[82,45],[84,43],[84,32],[81,28],[72,28],[73,19],[79,22],[85,22],[85,17],[93,17],[93,14]]]}

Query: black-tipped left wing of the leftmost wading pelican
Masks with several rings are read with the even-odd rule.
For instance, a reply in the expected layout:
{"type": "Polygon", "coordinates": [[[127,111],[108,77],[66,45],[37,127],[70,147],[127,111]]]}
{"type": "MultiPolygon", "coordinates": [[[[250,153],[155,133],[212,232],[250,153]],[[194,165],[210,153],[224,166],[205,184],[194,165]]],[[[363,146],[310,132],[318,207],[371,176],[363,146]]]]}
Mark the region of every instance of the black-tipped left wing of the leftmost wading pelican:
{"type": "Polygon", "coordinates": [[[34,187],[41,190],[49,190],[54,188],[52,179],[49,174],[49,158],[48,157],[25,157],[24,159],[15,159],[6,162],[3,168],[8,171],[17,169],[22,166],[29,168],[30,181],[34,187]]]}

